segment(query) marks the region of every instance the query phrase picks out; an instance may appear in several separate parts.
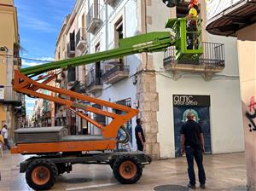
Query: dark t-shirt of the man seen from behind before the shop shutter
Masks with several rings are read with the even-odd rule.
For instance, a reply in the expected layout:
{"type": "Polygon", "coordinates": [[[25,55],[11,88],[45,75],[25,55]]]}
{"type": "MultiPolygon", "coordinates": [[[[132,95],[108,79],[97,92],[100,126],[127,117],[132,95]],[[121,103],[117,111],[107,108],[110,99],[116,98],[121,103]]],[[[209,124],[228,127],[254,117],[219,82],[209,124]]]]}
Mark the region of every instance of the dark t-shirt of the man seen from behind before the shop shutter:
{"type": "Polygon", "coordinates": [[[181,127],[180,134],[185,136],[185,146],[190,146],[191,148],[201,148],[201,126],[194,120],[189,119],[181,127]]]}

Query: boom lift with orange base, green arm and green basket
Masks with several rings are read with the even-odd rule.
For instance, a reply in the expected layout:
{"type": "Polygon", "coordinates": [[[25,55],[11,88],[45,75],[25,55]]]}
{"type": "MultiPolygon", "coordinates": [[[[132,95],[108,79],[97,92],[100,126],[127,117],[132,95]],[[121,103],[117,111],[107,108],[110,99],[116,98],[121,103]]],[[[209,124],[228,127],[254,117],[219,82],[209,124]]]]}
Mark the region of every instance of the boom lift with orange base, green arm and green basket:
{"type": "MultiPolygon", "coordinates": [[[[198,31],[195,32],[195,35],[201,39],[201,20],[197,20],[197,22],[198,31]]],[[[182,60],[183,58],[198,59],[202,54],[201,43],[197,49],[186,49],[186,19],[168,20],[166,27],[172,28],[175,36],[172,36],[170,32],[150,32],[136,37],[121,39],[118,49],[82,55],[15,71],[15,91],[60,103],[102,130],[102,136],[68,136],[68,139],[63,139],[61,142],[23,142],[16,144],[11,149],[11,153],[38,155],[20,163],[20,172],[26,172],[26,182],[31,188],[40,190],[51,188],[57,175],[72,171],[73,164],[110,165],[113,168],[114,177],[119,182],[135,183],[139,180],[142,176],[143,166],[148,165],[151,162],[151,158],[143,152],[114,151],[118,142],[116,140],[118,130],[122,127],[122,124],[136,116],[139,111],[109,101],[84,96],[71,90],[52,87],[48,83],[56,77],[56,74],[50,71],[59,68],[77,67],[96,61],[106,61],[125,55],[163,51],[173,45],[177,49],[177,60],[182,60]],[[48,74],[38,76],[45,72],[48,72],[48,74]],[[38,76],[37,79],[32,79],[36,76],[38,76]],[[38,81],[42,79],[44,79],[44,82],[39,83],[38,81]],[[42,93],[43,91],[38,90],[49,90],[67,96],[70,99],[45,95],[42,93]],[[109,109],[108,111],[103,111],[72,100],[89,101],[104,107],[118,109],[125,112],[125,114],[111,113],[108,112],[111,111],[109,109]],[[104,126],[90,119],[81,110],[107,116],[112,121],[104,126]]]]}

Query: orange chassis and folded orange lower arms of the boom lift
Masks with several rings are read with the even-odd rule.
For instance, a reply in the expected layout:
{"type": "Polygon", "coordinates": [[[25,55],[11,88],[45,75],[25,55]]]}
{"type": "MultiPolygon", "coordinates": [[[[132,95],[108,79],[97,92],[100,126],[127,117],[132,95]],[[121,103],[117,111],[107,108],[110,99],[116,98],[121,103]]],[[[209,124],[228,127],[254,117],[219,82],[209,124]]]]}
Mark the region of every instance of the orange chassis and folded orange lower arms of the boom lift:
{"type": "MultiPolygon", "coordinates": [[[[54,153],[54,152],[75,152],[75,151],[95,151],[95,150],[113,150],[116,147],[116,136],[118,130],[122,124],[125,124],[128,120],[137,115],[138,110],[131,107],[125,107],[119,104],[115,104],[108,101],[102,101],[90,96],[83,96],[79,93],[62,90],[55,88],[53,86],[47,85],[51,79],[55,78],[55,74],[49,75],[43,83],[38,83],[36,80],[27,78],[26,75],[15,71],[15,80],[14,80],[14,90],[20,93],[24,93],[30,96],[40,97],[49,101],[55,101],[62,105],[65,105],[67,108],[72,109],[76,114],[78,114],[82,119],[87,120],[91,124],[94,124],[96,127],[102,130],[102,136],[104,139],[100,141],[93,142],[72,142],[73,147],[69,147],[71,142],[47,142],[47,143],[23,143],[18,144],[11,149],[12,153],[54,153]],[[21,82],[21,83],[20,83],[21,82]],[[110,113],[97,109],[95,107],[84,106],[83,104],[75,103],[74,101],[62,99],[60,97],[45,95],[40,93],[37,90],[49,90],[63,96],[68,96],[73,98],[76,101],[90,101],[90,103],[96,103],[104,107],[111,107],[113,109],[118,109],[125,112],[123,115],[110,113]],[[76,110],[79,109],[79,110],[76,110]],[[103,126],[102,124],[97,123],[95,120],[90,119],[87,115],[84,115],[80,110],[88,111],[91,113],[96,113],[100,115],[107,116],[113,119],[110,124],[103,126]]],[[[38,78],[42,79],[42,78],[38,78]]]]}

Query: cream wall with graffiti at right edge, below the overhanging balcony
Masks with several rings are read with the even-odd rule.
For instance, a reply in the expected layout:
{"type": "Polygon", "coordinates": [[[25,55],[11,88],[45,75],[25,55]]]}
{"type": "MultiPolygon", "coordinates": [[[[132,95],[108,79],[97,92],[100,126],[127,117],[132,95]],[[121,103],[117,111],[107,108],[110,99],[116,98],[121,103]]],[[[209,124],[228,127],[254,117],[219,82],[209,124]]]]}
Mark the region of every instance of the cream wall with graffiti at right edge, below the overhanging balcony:
{"type": "Polygon", "coordinates": [[[237,32],[247,188],[256,190],[256,24],[237,32]]]}

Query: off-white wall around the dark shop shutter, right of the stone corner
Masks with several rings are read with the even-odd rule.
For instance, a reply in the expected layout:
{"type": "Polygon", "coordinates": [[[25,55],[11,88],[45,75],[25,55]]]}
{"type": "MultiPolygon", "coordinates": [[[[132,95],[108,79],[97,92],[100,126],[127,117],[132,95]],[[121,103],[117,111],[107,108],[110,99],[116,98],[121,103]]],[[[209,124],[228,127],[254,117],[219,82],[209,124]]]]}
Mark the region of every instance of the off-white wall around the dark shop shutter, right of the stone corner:
{"type": "MultiPolygon", "coordinates": [[[[153,25],[148,26],[148,32],[163,28],[161,24],[168,18],[170,9],[166,10],[165,5],[152,1],[148,14],[154,15],[155,12],[161,14],[152,17],[153,25]]],[[[212,153],[244,150],[236,38],[212,36],[207,32],[204,34],[207,42],[225,44],[224,72],[218,73],[209,82],[195,73],[183,73],[183,76],[175,81],[172,79],[172,72],[166,72],[163,67],[163,53],[153,54],[154,68],[158,71],[156,77],[160,101],[160,110],[157,114],[158,142],[162,159],[175,157],[172,95],[211,96],[212,153]]]]}

